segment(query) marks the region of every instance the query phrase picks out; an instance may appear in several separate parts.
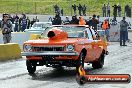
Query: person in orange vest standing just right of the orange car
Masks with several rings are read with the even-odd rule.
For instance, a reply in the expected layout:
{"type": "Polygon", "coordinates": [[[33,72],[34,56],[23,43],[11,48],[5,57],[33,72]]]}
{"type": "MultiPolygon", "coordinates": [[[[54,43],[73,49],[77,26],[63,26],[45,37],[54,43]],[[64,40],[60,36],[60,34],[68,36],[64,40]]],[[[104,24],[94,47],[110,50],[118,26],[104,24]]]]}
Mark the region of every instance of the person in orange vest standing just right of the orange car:
{"type": "Polygon", "coordinates": [[[110,29],[110,24],[109,24],[109,22],[107,21],[107,19],[105,19],[104,22],[102,22],[101,28],[102,28],[103,30],[105,30],[106,39],[107,39],[107,41],[109,41],[109,29],[110,29]]]}

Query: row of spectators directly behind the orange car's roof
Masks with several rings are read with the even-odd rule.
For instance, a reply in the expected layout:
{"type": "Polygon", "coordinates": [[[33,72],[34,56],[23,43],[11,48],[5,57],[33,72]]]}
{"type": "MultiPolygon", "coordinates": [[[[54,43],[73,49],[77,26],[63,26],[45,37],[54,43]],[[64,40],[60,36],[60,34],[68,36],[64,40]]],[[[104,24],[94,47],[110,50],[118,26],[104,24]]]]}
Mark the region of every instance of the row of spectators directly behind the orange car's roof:
{"type": "Polygon", "coordinates": [[[99,24],[99,20],[96,19],[98,16],[95,14],[93,15],[93,18],[89,18],[85,20],[82,16],[77,17],[77,15],[72,16],[72,19],[70,20],[68,16],[64,20],[61,19],[61,16],[57,13],[55,17],[53,17],[52,25],[67,25],[67,24],[74,24],[74,25],[89,25],[92,26],[95,30],[97,30],[97,24],[99,24]]]}

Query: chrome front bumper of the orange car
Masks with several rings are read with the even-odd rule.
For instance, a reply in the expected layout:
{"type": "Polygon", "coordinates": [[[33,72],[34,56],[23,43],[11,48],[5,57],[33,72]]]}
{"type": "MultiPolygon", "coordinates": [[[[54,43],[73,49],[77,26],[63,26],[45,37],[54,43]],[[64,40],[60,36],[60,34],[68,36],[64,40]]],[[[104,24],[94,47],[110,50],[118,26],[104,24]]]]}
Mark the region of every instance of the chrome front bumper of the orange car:
{"type": "Polygon", "coordinates": [[[54,51],[45,51],[45,52],[21,52],[22,56],[78,56],[78,52],[54,52],[54,51]]]}

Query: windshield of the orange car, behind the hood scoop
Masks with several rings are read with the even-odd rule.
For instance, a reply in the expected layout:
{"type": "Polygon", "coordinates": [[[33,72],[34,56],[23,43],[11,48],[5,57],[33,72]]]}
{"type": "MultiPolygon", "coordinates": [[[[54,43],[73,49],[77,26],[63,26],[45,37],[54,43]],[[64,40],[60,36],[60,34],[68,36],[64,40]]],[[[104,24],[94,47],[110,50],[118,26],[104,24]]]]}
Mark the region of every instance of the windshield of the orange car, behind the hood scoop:
{"type": "MultiPolygon", "coordinates": [[[[43,37],[47,37],[47,33],[50,29],[54,27],[48,27],[42,34],[43,37]]],[[[85,27],[78,27],[78,26],[61,26],[55,27],[61,29],[68,33],[69,38],[82,38],[84,37],[84,29],[85,27]]]]}

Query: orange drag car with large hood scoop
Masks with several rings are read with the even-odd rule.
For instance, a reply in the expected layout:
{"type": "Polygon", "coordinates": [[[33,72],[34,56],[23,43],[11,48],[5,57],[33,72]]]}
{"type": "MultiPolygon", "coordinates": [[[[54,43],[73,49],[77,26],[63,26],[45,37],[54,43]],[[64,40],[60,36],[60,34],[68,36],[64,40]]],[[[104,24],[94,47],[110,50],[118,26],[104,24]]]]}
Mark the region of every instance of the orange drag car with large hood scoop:
{"type": "Polygon", "coordinates": [[[104,57],[108,54],[107,42],[93,39],[95,36],[87,26],[58,25],[48,27],[42,38],[29,40],[23,44],[22,56],[26,56],[29,73],[36,66],[79,67],[92,63],[93,68],[102,68],[104,57]],[[86,36],[87,33],[87,36],[86,36]]]}

